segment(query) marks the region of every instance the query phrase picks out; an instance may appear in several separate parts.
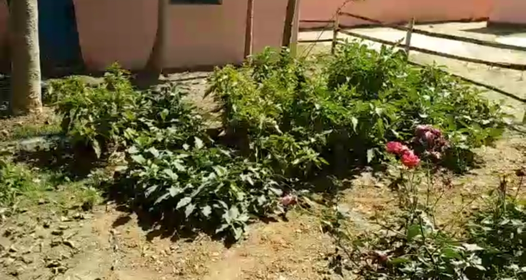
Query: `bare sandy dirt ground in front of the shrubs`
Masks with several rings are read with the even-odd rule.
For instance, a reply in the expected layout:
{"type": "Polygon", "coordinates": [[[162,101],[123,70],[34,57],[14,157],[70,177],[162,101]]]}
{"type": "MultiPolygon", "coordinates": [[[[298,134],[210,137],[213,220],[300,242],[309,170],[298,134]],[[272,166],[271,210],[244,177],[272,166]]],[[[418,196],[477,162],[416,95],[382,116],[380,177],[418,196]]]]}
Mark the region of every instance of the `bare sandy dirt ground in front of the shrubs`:
{"type": "MultiPolygon", "coordinates": [[[[454,180],[441,200],[444,224],[466,214],[467,198],[497,187],[498,175],[526,164],[526,141],[510,132],[479,154],[483,167],[454,180]]],[[[355,230],[371,229],[378,213],[396,209],[395,195],[370,173],[351,184],[340,205],[350,209],[355,230]]],[[[0,279],[336,279],[326,273],[327,257],[335,252],[331,237],[321,232],[318,217],[299,209],[287,222],[252,224],[230,248],[206,235],[190,242],[162,233],[122,205],[57,211],[43,203],[2,224],[0,279]]]]}

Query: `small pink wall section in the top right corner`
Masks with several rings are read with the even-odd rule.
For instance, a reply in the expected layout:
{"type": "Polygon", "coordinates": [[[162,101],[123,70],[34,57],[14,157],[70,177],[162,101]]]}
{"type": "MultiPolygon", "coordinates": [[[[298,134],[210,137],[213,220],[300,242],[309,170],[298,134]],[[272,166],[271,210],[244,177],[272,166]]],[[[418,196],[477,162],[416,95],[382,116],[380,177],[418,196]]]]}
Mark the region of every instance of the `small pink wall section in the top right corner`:
{"type": "Polygon", "coordinates": [[[490,22],[526,24],[526,1],[493,0],[490,22]]]}

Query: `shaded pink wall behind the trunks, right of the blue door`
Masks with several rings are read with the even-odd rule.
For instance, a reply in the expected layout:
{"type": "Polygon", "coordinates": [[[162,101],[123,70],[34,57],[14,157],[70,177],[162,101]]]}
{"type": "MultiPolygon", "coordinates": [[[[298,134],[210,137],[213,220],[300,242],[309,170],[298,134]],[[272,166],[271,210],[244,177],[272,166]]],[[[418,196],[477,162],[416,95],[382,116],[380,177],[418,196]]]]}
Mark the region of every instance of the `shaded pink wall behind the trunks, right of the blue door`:
{"type": "MultiPolygon", "coordinates": [[[[279,46],[286,0],[256,1],[254,50],[279,46]]],[[[88,69],[114,61],[144,67],[155,39],[157,1],[74,0],[80,47],[88,69]]],[[[244,58],[246,0],[222,5],[172,5],[166,67],[240,63],[244,58]]]]}

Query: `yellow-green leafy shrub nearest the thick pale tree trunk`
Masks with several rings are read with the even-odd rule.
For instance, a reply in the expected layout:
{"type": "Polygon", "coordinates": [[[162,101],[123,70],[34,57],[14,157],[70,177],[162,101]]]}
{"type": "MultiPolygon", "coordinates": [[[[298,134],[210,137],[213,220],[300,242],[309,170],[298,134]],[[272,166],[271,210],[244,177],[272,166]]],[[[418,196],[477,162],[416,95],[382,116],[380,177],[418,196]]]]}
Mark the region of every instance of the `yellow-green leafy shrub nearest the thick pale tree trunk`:
{"type": "Polygon", "coordinates": [[[134,91],[125,71],[110,68],[104,82],[90,86],[78,77],[56,89],[56,111],[63,132],[75,146],[93,149],[97,158],[122,135],[125,120],[133,116],[134,91]]]}

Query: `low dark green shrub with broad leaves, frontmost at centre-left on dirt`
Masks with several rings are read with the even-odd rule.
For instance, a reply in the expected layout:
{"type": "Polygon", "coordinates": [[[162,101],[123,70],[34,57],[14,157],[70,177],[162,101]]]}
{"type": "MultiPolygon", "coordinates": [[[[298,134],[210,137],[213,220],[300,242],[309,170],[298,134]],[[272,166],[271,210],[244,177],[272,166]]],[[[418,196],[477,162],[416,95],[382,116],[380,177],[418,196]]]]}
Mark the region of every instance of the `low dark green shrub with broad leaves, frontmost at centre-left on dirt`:
{"type": "Polygon", "coordinates": [[[181,226],[238,240],[250,215],[275,209],[281,194],[269,170],[236,160],[231,151],[206,147],[198,138],[182,150],[139,151],[133,146],[128,152],[128,179],[143,204],[153,211],[175,211],[184,221],[181,226]]]}

